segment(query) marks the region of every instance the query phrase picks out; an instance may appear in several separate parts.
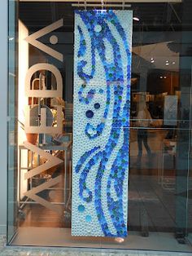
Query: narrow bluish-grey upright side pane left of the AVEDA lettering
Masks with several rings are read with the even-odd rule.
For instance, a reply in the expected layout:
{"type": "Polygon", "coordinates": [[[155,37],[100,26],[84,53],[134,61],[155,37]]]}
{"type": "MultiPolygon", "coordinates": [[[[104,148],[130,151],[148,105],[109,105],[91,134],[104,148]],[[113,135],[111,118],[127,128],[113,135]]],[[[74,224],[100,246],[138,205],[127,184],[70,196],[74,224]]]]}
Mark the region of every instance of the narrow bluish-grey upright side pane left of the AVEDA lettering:
{"type": "MultiPolygon", "coordinates": [[[[7,241],[15,234],[17,223],[17,17],[16,1],[9,1],[9,48],[8,48],[8,203],[7,203],[7,241]]],[[[6,109],[6,108],[5,108],[6,109]]]]}

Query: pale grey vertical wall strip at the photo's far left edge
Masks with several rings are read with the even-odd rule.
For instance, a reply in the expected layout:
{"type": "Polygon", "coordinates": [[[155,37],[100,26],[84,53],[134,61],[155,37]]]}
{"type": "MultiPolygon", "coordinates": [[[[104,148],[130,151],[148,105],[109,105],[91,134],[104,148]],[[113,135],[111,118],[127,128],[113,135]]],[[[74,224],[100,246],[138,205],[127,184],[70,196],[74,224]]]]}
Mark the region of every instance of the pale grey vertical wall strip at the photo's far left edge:
{"type": "Polygon", "coordinates": [[[1,93],[0,93],[0,234],[7,223],[7,0],[0,1],[1,26],[1,93]]]}

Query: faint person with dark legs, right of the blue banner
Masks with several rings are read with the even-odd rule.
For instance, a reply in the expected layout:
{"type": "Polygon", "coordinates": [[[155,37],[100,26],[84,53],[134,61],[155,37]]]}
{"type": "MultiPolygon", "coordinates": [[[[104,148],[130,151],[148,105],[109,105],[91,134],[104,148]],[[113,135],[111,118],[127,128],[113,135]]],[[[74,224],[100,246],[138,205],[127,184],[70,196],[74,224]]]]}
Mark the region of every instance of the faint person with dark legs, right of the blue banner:
{"type": "Polygon", "coordinates": [[[141,99],[137,105],[137,165],[141,164],[142,161],[142,143],[144,144],[148,156],[148,160],[151,157],[151,148],[148,144],[148,132],[147,128],[152,124],[151,113],[146,106],[146,95],[141,95],[141,99]]]}

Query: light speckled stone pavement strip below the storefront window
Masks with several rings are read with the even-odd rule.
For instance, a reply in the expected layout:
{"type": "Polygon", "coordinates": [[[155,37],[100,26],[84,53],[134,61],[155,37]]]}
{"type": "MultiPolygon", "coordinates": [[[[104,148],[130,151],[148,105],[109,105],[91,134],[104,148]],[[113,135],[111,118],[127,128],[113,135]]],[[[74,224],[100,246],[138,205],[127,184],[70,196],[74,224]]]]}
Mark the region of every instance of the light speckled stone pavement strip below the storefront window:
{"type": "Polygon", "coordinates": [[[191,256],[191,253],[153,252],[109,249],[68,249],[60,247],[5,246],[5,236],[0,236],[1,256],[191,256]]]}

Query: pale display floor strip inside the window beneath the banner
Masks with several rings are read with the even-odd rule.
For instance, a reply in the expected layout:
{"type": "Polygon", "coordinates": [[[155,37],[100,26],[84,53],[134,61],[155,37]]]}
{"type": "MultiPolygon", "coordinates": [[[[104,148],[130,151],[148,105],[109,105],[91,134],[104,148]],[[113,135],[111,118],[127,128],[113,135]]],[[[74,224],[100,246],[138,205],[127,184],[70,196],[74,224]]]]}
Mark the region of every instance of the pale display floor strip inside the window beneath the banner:
{"type": "Polygon", "coordinates": [[[192,252],[189,243],[178,243],[174,234],[168,232],[150,232],[147,237],[141,236],[141,232],[129,232],[129,236],[120,242],[113,237],[72,236],[69,228],[54,227],[21,227],[12,245],[192,252]]]}

